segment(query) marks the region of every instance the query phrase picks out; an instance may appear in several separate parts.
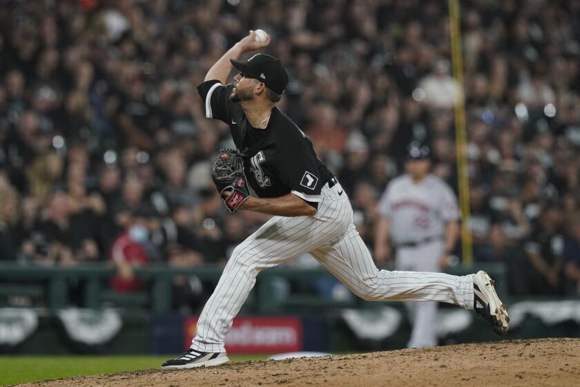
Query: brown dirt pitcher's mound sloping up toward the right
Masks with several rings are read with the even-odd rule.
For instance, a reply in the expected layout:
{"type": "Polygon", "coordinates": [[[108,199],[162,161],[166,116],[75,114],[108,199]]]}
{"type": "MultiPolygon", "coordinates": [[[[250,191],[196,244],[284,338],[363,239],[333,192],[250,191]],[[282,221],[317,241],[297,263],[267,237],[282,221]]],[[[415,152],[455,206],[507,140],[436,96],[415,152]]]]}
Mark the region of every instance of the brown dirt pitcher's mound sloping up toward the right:
{"type": "Polygon", "coordinates": [[[18,386],[579,386],[580,339],[461,344],[214,368],[146,370],[18,386]]]}

